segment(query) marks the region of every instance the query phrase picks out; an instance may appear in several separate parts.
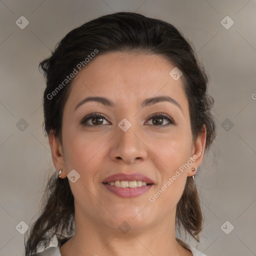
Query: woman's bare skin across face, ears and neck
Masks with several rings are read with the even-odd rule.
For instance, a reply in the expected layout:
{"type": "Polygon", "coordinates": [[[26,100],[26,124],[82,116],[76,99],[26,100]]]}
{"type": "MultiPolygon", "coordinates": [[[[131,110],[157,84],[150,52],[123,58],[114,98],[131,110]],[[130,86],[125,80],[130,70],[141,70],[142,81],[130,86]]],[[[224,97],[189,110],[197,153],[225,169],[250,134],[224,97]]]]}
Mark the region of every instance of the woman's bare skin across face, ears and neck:
{"type": "Polygon", "coordinates": [[[60,247],[62,256],[70,255],[192,255],[175,240],[175,211],[191,168],[200,165],[206,131],[193,143],[188,101],[181,78],[172,79],[174,68],[156,54],[114,52],[98,55],[75,77],[64,106],[62,146],[49,134],[52,160],[61,178],[75,169],[80,178],[69,181],[74,195],[75,234],[60,247]],[[141,108],[145,98],[167,95],[173,103],[163,101],[141,108]],[[116,106],[86,102],[87,96],[103,96],[116,106]],[[90,126],[81,119],[99,112],[105,116],[90,126]],[[163,112],[175,121],[162,119],[155,124],[150,114],[163,112]],[[126,118],[131,127],[125,132],[118,123],[126,118]],[[101,124],[102,123],[102,124],[101,124]],[[93,126],[94,125],[94,126],[93,126]],[[149,201],[168,178],[189,157],[201,152],[165,191],[149,201]],[[102,180],[114,173],[142,173],[154,181],[146,193],[134,198],[119,197],[108,191],[102,180]],[[122,233],[118,226],[126,221],[131,229],[122,233]]]}

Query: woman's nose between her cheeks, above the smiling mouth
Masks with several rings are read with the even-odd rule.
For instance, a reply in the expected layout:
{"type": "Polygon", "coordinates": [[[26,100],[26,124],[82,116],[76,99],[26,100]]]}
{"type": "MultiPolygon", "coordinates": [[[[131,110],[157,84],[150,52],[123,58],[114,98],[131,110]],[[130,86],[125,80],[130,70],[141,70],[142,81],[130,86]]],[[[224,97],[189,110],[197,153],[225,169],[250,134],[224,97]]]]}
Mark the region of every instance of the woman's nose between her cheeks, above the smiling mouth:
{"type": "Polygon", "coordinates": [[[146,157],[146,143],[135,125],[131,125],[126,131],[117,127],[117,133],[112,140],[110,158],[114,161],[123,161],[126,164],[131,164],[143,161],[146,157]]]}

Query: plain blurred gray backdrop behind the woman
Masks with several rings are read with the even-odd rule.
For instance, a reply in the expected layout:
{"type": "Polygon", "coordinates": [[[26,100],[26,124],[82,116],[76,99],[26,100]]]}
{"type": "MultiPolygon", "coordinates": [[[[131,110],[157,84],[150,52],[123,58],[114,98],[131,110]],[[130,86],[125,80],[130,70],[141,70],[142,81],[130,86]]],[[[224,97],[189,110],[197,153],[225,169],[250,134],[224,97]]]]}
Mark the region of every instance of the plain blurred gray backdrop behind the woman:
{"type": "Polygon", "coordinates": [[[200,244],[187,241],[207,256],[256,255],[255,0],[0,0],[0,256],[22,254],[24,234],[15,227],[38,217],[55,171],[41,127],[38,63],[71,29],[116,11],[175,25],[211,77],[217,137],[196,174],[204,229],[200,244]],[[29,21],[24,29],[15,23],[22,15],[29,21]],[[229,29],[221,24],[226,15],[234,21],[229,29]]]}

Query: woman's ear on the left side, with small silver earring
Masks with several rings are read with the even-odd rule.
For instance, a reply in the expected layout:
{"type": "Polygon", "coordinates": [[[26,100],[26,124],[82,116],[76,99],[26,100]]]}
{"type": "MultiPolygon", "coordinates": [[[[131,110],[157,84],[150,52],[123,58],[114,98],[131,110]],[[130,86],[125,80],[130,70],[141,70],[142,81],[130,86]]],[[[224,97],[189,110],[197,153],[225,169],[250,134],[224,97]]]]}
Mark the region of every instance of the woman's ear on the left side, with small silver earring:
{"type": "Polygon", "coordinates": [[[51,150],[52,162],[56,169],[57,175],[58,175],[58,171],[62,169],[61,178],[63,178],[66,176],[66,170],[65,170],[65,160],[64,160],[61,143],[58,141],[53,130],[50,130],[48,134],[48,139],[49,139],[49,145],[51,150]]]}

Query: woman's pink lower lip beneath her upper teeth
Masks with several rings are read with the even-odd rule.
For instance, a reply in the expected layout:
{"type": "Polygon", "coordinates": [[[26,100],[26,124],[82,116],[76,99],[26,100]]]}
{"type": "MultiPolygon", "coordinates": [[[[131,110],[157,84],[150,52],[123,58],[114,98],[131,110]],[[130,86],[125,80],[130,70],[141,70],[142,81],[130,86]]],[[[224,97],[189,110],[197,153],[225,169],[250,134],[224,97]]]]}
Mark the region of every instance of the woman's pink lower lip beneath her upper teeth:
{"type": "Polygon", "coordinates": [[[147,192],[153,184],[149,184],[146,186],[137,186],[137,187],[120,187],[120,186],[112,186],[106,183],[102,183],[105,188],[107,188],[110,192],[121,196],[121,197],[135,197],[147,192]]]}

